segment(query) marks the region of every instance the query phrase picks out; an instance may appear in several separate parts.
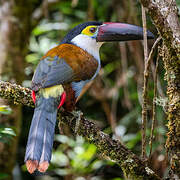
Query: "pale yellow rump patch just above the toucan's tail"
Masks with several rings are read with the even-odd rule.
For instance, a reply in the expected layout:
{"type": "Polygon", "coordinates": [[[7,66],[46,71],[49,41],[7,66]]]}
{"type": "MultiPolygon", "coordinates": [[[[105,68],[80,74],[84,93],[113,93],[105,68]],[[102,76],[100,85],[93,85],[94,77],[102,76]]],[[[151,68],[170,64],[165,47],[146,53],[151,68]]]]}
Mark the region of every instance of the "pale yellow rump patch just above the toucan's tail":
{"type": "Polygon", "coordinates": [[[49,97],[56,98],[58,96],[61,96],[63,92],[64,88],[62,85],[56,85],[49,88],[41,89],[41,93],[46,99],[49,97]]]}

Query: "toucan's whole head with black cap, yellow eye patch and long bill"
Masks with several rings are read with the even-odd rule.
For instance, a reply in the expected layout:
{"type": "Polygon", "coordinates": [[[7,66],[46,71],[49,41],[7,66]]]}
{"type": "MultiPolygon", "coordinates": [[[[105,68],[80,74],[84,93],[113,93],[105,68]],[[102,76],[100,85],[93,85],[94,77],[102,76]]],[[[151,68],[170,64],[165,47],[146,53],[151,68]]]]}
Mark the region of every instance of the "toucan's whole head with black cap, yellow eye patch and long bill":
{"type": "MultiPolygon", "coordinates": [[[[147,38],[153,39],[154,35],[147,31],[147,38]]],[[[75,44],[96,57],[99,55],[99,48],[104,42],[142,39],[142,27],[125,23],[94,21],[82,23],[74,27],[64,37],[61,44],[75,44]]]]}

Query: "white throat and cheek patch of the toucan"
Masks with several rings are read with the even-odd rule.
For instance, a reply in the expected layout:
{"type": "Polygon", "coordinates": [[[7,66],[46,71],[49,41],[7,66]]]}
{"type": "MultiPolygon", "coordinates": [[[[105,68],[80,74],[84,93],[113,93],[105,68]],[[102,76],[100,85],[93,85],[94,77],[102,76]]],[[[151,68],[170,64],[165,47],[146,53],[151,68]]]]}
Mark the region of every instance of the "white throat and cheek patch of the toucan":
{"type": "Polygon", "coordinates": [[[102,42],[96,42],[96,39],[92,39],[83,34],[79,34],[74,37],[71,42],[73,42],[76,46],[84,49],[89,54],[95,57],[95,59],[100,64],[100,57],[99,57],[99,49],[102,46],[102,42]]]}

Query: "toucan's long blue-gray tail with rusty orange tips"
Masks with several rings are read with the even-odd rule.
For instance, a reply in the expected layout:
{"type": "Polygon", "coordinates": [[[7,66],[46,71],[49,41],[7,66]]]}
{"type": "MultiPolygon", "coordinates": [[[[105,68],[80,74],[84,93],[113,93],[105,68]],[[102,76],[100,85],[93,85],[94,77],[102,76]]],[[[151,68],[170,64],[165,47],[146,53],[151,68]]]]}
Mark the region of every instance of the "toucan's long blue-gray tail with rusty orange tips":
{"type": "MultiPolygon", "coordinates": [[[[30,167],[31,170],[28,169],[28,171],[34,172],[36,168],[38,169],[39,164],[49,163],[51,160],[57,107],[57,98],[40,97],[36,99],[25,155],[25,162],[27,163],[28,160],[36,162],[36,166],[30,167]]],[[[32,166],[32,163],[30,164],[32,166]]]]}

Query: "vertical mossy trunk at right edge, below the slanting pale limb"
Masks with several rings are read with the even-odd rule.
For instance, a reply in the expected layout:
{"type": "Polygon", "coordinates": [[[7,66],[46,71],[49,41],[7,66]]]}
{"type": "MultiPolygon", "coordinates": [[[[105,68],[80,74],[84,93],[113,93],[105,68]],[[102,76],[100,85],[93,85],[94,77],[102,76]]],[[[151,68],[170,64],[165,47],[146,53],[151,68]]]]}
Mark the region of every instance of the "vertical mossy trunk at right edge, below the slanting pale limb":
{"type": "Polygon", "coordinates": [[[180,63],[172,56],[167,47],[162,48],[166,80],[168,82],[168,133],[166,148],[171,157],[171,170],[180,177],[180,63]]]}

